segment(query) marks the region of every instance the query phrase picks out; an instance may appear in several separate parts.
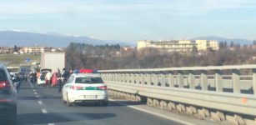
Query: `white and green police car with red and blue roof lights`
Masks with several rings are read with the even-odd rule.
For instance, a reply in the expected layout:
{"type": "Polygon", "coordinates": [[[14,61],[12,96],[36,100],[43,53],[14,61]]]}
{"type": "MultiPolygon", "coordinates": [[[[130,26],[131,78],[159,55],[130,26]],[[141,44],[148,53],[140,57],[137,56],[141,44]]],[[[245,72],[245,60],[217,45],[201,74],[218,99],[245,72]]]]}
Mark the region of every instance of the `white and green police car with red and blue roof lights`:
{"type": "Polygon", "coordinates": [[[84,69],[68,78],[63,86],[63,103],[70,107],[75,102],[98,102],[100,106],[108,106],[107,85],[98,73],[84,69]]]}

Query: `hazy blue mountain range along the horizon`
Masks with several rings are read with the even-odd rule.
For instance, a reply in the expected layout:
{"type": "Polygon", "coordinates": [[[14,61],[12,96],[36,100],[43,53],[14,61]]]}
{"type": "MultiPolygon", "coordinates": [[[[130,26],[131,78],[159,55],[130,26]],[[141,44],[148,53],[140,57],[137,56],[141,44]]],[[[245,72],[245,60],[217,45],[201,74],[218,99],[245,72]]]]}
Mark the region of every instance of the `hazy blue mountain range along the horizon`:
{"type": "MultiPolygon", "coordinates": [[[[252,44],[252,40],[242,38],[226,37],[193,37],[189,40],[218,40],[219,42],[233,42],[235,44],[252,44]]],[[[81,37],[71,35],[61,35],[58,33],[33,33],[33,32],[15,32],[0,31],[0,46],[28,47],[28,46],[48,46],[48,47],[68,47],[70,42],[81,42],[92,45],[119,44],[121,46],[136,46],[136,42],[122,42],[118,40],[100,40],[92,37],[81,37]]]]}

